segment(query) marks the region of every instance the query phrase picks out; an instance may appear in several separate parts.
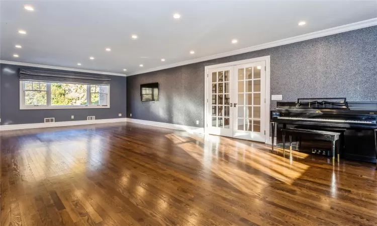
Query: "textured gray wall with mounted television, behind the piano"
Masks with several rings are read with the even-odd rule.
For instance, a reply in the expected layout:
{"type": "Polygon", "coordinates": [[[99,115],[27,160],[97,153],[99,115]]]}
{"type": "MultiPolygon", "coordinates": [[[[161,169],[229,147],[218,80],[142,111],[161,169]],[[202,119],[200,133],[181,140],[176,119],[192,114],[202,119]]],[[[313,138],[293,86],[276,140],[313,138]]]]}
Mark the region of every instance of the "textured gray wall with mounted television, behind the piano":
{"type": "MultiPolygon", "coordinates": [[[[310,97],[377,100],[377,26],[374,26],[129,76],[127,117],[204,127],[204,67],[267,55],[271,60],[271,95],[282,94],[284,101],[310,97]],[[159,83],[159,101],[141,102],[140,84],[149,82],[159,83]]],[[[271,101],[271,109],[275,106],[276,101],[271,101]]]]}

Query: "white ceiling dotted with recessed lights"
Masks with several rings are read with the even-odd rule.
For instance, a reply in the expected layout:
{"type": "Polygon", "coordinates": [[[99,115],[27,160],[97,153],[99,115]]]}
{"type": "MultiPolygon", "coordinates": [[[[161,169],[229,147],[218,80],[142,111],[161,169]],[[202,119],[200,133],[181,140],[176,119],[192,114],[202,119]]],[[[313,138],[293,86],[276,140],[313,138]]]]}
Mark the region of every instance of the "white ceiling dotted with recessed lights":
{"type": "Polygon", "coordinates": [[[1,60],[126,74],[377,18],[377,1],[1,1],[0,8],[1,60]]]}

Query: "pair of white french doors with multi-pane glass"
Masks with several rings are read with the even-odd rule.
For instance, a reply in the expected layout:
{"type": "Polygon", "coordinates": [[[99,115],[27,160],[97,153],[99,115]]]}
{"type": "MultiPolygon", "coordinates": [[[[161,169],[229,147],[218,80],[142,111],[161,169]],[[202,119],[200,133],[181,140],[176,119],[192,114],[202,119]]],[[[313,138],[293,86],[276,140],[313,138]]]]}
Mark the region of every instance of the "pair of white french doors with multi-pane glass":
{"type": "Polygon", "coordinates": [[[265,142],[265,61],[208,71],[209,134],[265,142]]]}

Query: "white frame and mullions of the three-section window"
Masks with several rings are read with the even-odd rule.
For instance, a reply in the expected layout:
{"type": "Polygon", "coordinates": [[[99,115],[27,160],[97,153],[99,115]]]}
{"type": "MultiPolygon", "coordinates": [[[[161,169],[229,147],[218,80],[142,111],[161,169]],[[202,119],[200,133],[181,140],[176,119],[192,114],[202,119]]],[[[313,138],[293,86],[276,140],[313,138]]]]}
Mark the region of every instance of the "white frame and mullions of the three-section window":
{"type": "MultiPolygon", "coordinates": [[[[33,81],[33,80],[30,80],[33,81]]],[[[46,92],[47,92],[47,105],[26,105],[25,104],[25,83],[28,81],[20,81],[20,110],[30,110],[30,109],[82,109],[82,108],[110,108],[110,85],[108,86],[107,93],[107,105],[96,105],[91,104],[91,90],[90,85],[86,84],[86,103],[87,105],[52,105],[51,104],[51,83],[63,83],[67,82],[46,82],[46,92]]],[[[36,81],[39,82],[39,81],[36,81]]],[[[42,81],[40,81],[42,82],[42,81]]],[[[85,84],[84,84],[85,85],[85,84]]],[[[95,85],[95,84],[92,84],[95,85]]],[[[101,85],[101,84],[99,84],[101,85]]]]}

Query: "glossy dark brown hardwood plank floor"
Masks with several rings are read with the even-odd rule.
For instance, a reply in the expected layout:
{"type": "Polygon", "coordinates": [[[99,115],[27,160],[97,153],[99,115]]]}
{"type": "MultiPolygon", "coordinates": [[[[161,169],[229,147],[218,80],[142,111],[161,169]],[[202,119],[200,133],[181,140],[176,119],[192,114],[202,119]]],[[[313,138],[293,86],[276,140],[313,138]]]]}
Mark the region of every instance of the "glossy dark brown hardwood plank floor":
{"type": "Polygon", "coordinates": [[[138,124],[1,132],[1,225],[376,225],[371,163],[138,124]]]}

